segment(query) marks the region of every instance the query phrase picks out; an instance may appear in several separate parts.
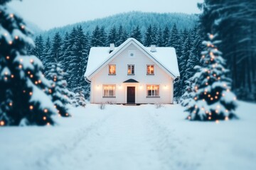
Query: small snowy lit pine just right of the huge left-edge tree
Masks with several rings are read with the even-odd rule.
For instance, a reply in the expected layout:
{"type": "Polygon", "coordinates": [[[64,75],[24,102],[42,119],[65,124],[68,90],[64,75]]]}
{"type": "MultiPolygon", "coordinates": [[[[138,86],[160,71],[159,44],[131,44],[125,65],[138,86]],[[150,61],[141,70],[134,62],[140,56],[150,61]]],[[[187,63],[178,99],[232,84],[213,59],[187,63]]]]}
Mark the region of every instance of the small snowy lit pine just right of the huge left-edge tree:
{"type": "Polygon", "coordinates": [[[49,72],[49,77],[52,80],[52,92],[50,96],[52,96],[52,101],[55,108],[57,108],[58,114],[63,117],[68,117],[70,114],[68,113],[67,104],[71,103],[71,101],[67,95],[69,92],[64,76],[65,72],[61,69],[60,63],[57,61],[53,63],[49,72]]]}

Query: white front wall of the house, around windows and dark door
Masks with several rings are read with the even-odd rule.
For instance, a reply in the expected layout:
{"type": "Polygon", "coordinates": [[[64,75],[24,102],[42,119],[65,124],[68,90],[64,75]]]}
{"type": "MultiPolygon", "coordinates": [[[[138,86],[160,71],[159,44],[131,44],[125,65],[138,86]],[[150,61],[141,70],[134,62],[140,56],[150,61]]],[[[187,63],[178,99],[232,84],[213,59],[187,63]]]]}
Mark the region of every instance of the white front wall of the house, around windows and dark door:
{"type": "Polygon", "coordinates": [[[108,75],[108,65],[91,80],[91,103],[127,103],[127,86],[135,86],[136,103],[173,103],[173,79],[133,44],[114,58],[109,64],[116,64],[116,75],[108,75]],[[129,57],[129,52],[134,57],[129,57]],[[135,75],[127,75],[127,64],[134,64],[135,75]],[[154,64],[154,75],[146,75],[146,64],[154,64]],[[139,83],[122,83],[135,79],[139,83]],[[102,84],[116,84],[116,98],[102,98],[102,84]],[[146,84],[159,84],[160,98],[146,98],[146,84]]]}

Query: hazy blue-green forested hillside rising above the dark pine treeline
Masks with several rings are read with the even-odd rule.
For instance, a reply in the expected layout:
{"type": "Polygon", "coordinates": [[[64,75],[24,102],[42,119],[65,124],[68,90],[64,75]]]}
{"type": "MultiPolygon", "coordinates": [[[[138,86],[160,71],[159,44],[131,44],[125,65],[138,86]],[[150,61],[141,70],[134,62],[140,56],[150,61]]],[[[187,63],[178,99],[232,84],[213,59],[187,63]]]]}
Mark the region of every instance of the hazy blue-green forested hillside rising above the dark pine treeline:
{"type": "Polygon", "coordinates": [[[108,31],[112,26],[118,27],[122,25],[124,29],[129,33],[132,28],[139,26],[142,33],[145,32],[146,28],[151,25],[164,28],[165,26],[171,26],[176,23],[178,29],[192,28],[195,22],[198,20],[198,16],[194,14],[185,13],[144,13],[138,11],[132,11],[129,13],[119,13],[114,16],[108,16],[106,18],[95,19],[93,21],[85,21],[80,23],[63,26],[61,28],[53,28],[42,33],[43,38],[53,35],[58,31],[60,35],[64,35],[65,32],[70,32],[74,26],[81,25],[85,32],[91,33],[95,27],[104,26],[105,30],[108,31]]]}

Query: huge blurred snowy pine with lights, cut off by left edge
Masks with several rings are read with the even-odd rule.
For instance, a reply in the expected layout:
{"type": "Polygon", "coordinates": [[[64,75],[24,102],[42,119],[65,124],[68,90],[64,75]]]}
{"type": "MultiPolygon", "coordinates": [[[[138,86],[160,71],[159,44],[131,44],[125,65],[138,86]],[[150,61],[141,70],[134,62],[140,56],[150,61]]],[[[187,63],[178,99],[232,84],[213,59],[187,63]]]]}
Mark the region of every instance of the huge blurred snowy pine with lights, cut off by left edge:
{"type": "Polygon", "coordinates": [[[43,77],[42,62],[27,55],[34,46],[22,18],[0,1],[0,125],[53,125],[57,114],[43,89],[50,82],[43,77]]]}

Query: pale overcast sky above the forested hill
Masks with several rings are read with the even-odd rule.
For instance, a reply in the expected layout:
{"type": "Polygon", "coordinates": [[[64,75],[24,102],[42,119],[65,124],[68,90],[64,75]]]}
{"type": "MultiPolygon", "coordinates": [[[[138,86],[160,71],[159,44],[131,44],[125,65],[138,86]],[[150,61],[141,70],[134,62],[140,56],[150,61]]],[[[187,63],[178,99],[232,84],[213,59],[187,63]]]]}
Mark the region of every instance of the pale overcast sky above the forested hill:
{"type": "Polygon", "coordinates": [[[116,13],[144,11],[200,13],[203,0],[13,0],[9,6],[43,30],[116,13]]]}

